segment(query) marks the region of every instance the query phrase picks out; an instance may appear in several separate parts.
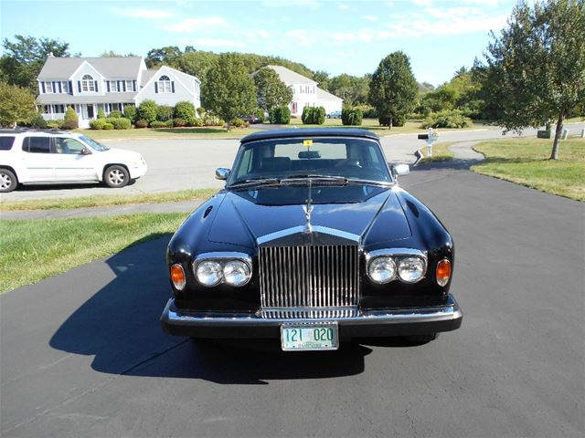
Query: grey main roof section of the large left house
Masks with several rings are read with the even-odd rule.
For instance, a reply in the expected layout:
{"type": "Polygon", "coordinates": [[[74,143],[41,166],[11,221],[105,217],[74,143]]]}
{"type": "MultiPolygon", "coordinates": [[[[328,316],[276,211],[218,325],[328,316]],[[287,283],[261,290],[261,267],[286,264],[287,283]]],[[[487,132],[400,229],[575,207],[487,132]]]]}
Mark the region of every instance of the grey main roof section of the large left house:
{"type": "Polygon", "coordinates": [[[136,78],[142,57],[48,57],[38,79],[67,79],[87,61],[106,78],[136,78]]]}

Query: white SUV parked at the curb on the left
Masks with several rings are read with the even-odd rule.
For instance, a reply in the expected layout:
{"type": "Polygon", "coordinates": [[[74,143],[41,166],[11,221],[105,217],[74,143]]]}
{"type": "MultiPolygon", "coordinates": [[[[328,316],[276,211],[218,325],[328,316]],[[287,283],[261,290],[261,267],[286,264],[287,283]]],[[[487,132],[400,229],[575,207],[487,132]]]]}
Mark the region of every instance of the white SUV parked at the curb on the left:
{"type": "Polygon", "coordinates": [[[80,133],[0,130],[0,192],[12,192],[19,183],[123,187],[145,172],[140,153],[110,149],[80,133]]]}

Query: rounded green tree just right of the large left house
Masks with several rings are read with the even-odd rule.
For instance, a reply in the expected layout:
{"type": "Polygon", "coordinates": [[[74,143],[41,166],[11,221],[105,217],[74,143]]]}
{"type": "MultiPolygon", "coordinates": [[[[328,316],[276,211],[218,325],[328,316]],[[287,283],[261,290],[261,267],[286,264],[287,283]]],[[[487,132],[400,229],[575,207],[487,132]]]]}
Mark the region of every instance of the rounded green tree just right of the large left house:
{"type": "Polygon", "coordinates": [[[250,114],[256,107],[256,86],[241,59],[224,53],[218,57],[218,65],[207,71],[206,86],[202,89],[205,108],[213,110],[228,122],[250,114]]]}

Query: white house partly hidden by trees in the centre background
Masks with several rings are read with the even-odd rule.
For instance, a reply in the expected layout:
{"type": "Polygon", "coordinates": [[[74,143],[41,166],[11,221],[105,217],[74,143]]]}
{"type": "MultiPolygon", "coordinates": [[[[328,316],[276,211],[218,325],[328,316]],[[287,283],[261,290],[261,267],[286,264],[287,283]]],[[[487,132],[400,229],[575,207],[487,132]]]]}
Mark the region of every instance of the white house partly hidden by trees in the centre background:
{"type": "Polygon", "coordinates": [[[318,82],[313,79],[305,78],[303,75],[282,66],[266,67],[278,73],[282,82],[293,89],[293,101],[290,105],[292,116],[301,117],[304,107],[324,107],[327,114],[341,111],[344,100],[317,87],[318,82]]]}

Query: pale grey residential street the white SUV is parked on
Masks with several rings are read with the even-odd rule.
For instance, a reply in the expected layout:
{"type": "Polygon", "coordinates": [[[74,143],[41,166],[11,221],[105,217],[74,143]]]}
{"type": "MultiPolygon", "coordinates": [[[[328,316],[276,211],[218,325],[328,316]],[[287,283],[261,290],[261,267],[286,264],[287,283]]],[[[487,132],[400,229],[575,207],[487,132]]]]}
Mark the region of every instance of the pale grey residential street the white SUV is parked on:
{"type": "MultiPolygon", "coordinates": [[[[572,132],[585,125],[570,125],[572,132]]],[[[526,130],[524,135],[535,136],[535,130],[526,130]]],[[[508,134],[507,137],[510,137],[508,134]]],[[[500,130],[445,131],[440,141],[473,141],[501,139],[500,130]]],[[[88,196],[95,194],[156,193],[181,189],[221,187],[213,179],[218,167],[231,167],[239,142],[237,140],[142,140],[104,141],[114,148],[138,151],[148,162],[148,172],[143,178],[123,189],[109,189],[97,184],[86,186],[27,186],[13,193],[0,196],[0,201],[55,198],[60,196],[88,196]]],[[[390,135],[382,139],[389,161],[412,162],[413,153],[423,141],[417,134],[390,135]]]]}

